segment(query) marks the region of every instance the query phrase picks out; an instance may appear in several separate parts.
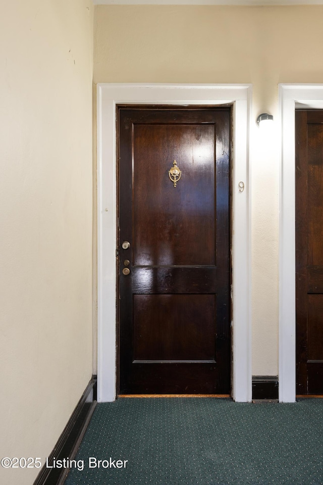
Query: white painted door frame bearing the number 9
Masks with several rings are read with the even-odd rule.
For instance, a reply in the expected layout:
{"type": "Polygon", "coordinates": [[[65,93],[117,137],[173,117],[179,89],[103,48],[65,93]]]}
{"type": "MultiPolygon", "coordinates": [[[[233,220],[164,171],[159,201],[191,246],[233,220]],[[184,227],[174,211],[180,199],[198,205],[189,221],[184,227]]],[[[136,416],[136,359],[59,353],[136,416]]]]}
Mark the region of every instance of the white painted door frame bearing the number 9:
{"type": "Polygon", "coordinates": [[[234,104],[233,398],[251,401],[249,84],[98,84],[98,402],[116,398],[116,105],[234,104]],[[238,183],[245,183],[239,192],[238,183]]]}

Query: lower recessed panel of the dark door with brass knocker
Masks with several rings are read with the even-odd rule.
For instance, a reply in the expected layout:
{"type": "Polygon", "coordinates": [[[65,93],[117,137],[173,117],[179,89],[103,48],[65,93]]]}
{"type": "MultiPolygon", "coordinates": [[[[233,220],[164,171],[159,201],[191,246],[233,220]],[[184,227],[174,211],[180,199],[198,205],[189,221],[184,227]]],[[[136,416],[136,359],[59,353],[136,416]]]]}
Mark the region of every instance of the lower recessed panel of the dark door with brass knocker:
{"type": "Polygon", "coordinates": [[[215,325],[214,295],[134,295],[134,360],[215,362],[215,325]]]}

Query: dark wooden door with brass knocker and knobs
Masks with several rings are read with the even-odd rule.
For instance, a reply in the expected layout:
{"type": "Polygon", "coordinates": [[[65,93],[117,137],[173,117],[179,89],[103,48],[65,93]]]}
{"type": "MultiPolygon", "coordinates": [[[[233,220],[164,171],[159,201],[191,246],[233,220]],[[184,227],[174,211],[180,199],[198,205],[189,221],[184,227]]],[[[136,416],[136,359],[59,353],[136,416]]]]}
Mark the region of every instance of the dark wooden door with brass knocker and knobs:
{"type": "Polygon", "coordinates": [[[230,393],[230,120],[119,108],[120,394],[230,393]]]}

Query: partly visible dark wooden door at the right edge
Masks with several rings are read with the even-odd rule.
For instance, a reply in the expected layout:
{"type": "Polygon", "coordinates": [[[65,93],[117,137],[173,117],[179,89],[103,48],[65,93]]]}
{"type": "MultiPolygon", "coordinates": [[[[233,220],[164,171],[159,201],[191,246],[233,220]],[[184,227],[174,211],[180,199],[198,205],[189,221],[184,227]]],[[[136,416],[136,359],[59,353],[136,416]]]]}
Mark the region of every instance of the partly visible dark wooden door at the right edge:
{"type": "Polygon", "coordinates": [[[296,394],[323,394],[323,111],[296,111],[296,394]]]}

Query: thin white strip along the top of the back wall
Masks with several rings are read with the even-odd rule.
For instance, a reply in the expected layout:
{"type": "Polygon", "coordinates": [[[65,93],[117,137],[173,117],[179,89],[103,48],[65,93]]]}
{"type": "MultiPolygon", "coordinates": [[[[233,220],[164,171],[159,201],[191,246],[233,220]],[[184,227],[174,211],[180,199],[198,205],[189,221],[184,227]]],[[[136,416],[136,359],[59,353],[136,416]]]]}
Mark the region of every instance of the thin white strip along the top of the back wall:
{"type": "Polygon", "coordinates": [[[323,0],[93,0],[94,5],[323,5],[323,0]]]}

